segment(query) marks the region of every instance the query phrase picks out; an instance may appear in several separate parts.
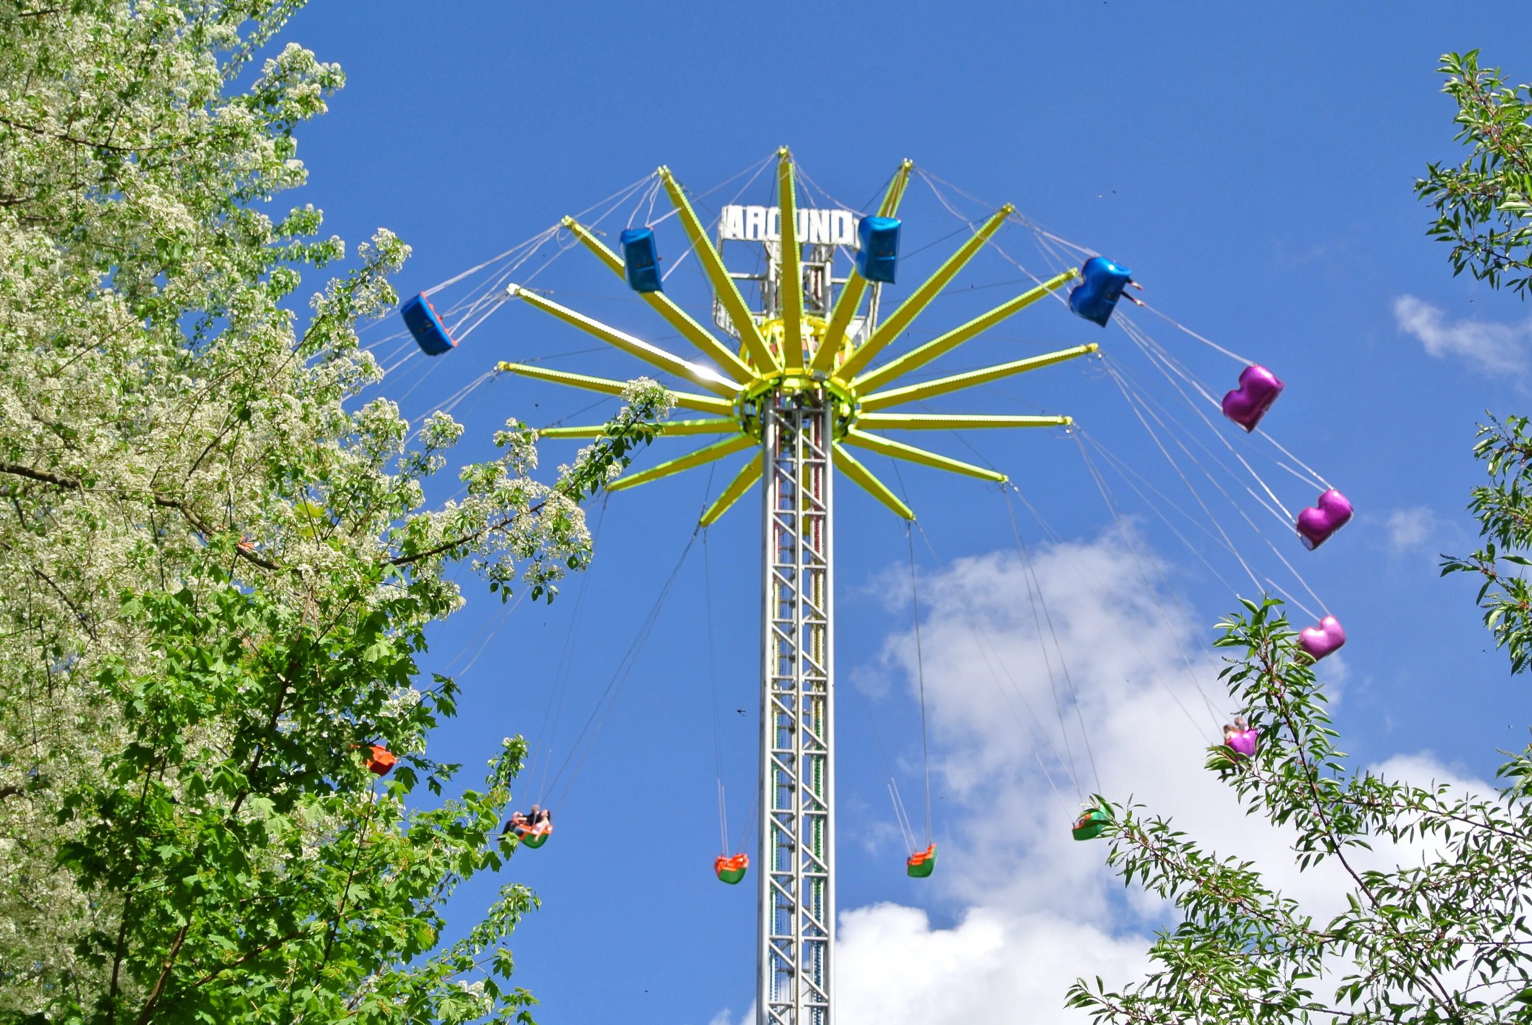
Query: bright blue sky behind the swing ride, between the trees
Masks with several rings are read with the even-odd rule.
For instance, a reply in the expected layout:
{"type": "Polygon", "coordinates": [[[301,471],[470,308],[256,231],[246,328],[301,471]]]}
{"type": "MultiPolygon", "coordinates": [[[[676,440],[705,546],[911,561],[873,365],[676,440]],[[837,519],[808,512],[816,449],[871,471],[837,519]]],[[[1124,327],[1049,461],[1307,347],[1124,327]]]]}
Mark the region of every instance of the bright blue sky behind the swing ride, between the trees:
{"type": "MultiPolygon", "coordinates": [[[[1411,182],[1428,161],[1460,158],[1451,103],[1437,92],[1439,54],[1483,46],[1488,63],[1506,64],[1512,78],[1532,78],[1532,64],[1515,63],[1532,43],[1532,26],[1517,15],[1500,3],[1255,9],[371,0],[314,3],[286,35],[339,61],[348,75],[331,113],[300,135],[311,170],[302,198],[322,207],[326,228],[351,242],[380,225],[409,242],[415,256],[400,277],[403,294],[538,234],[659,164],[702,192],[781,144],[826,193],[852,207],[875,195],[899,159],[912,158],[971,196],[1010,201],[1049,231],[1126,264],[1157,309],[1278,372],[1287,392],[1265,426],[1357,507],[1347,530],[1310,553],[1242,499],[1348,630],[1342,656],[1325,663],[1340,697],[1336,720],[1345,749],[1368,765],[1472,780],[1488,778],[1497,748],[1521,743],[1524,688],[1507,679],[1501,656],[1485,651],[1468,582],[1439,581],[1434,555],[1472,544],[1463,506],[1478,481],[1469,458],[1474,426],[1485,409],[1523,409],[1532,322],[1514,297],[1451,277],[1446,247],[1425,237],[1428,211],[1411,182]]],[[[766,201],[764,182],[745,199],[766,201]]],[[[982,213],[954,192],[945,196],[965,216],[982,213]]],[[[665,208],[662,199],[656,210],[665,208]]],[[[613,225],[630,210],[614,214],[613,225]]],[[[924,184],[912,187],[904,218],[907,291],[958,244],[948,236],[961,222],[924,184]]],[[[662,251],[680,253],[679,236],[665,231],[674,231],[673,221],[662,228],[662,251]]],[[[1052,267],[1031,234],[1008,231],[1002,247],[1026,271],[1052,267]]],[[[587,254],[570,253],[542,280],[571,296],[570,305],[640,337],[668,334],[590,264],[587,254]]],[[[987,254],[961,279],[984,288],[944,297],[921,326],[958,323],[1014,294],[1008,288],[1022,288],[1020,277],[987,254]]],[[[677,297],[699,308],[703,293],[694,273],[677,279],[677,297]]],[[[1131,316],[1210,388],[1233,385],[1238,363],[1152,314],[1131,316]]],[[[1175,392],[1120,328],[1100,331],[1052,303],[941,368],[1083,340],[1102,342],[1109,366],[1170,408],[1175,392]]],[[[380,346],[380,355],[392,348],[380,346]]],[[[620,355],[559,355],[588,348],[593,343],[573,329],[507,306],[450,355],[400,363],[380,391],[406,415],[421,417],[498,359],[552,357],[550,365],[564,369],[639,372],[620,355]]],[[[584,395],[496,380],[453,411],[469,426],[461,454],[487,454],[490,431],[509,415],[539,426],[585,404],[584,395]]],[[[1180,504],[1192,503],[1097,362],[933,408],[1072,414],[1086,437],[1123,464],[1180,504]]],[[[604,411],[610,406],[573,421],[604,411]]],[[[1178,415],[1196,423],[1189,408],[1178,415]]],[[[1250,449],[1236,434],[1223,437],[1239,452],[1268,450],[1250,449]]],[[[1229,458],[1213,434],[1193,427],[1192,435],[1229,458]]],[[[953,438],[919,441],[974,458],[953,438]]],[[[1102,788],[1118,800],[1161,794],[1177,811],[1177,795],[1200,786],[1200,746],[1215,734],[1206,714],[1190,717],[1193,725],[1160,700],[1177,688],[1178,697],[1196,699],[1187,679],[1166,670],[1181,656],[1163,645],[1180,634],[1195,663],[1187,671],[1218,703],[1204,662],[1209,627],[1233,607],[1233,596],[1212,570],[1246,594],[1253,590],[1249,578],[1164,503],[1140,501],[1108,472],[1146,547],[1124,545],[1068,437],[993,432],[971,443],[1016,480],[1057,535],[1059,544],[1049,544],[1048,529],[1022,510],[1039,579],[1065,624],[1063,645],[1079,645],[1080,709],[1098,740],[1102,788]],[[1212,567],[1164,527],[1157,509],[1203,538],[1195,547],[1212,567]],[[1135,559],[1157,561],[1164,584],[1158,573],[1147,587],[1135,584],[1135,559]],[[1164,610],[1175,613],[1175,625],[1164,610]],[[1092,651],[1118,647],[1138,656],[1115,663],[1092,651]],[[1138,689],[1151,679],[1158,689],[1138,689]],[[1123,719],[1134,708],[1143,716],[1137,726],[1123,719]],[[1164,729],[1151,728],[1166,709],[1164,729]],[[1140,769],[1157,760],[1184,763],[1190,775],[1169,774],[1155,791],[1140,769]]],[[[656,444],[673,446],[668,454],[686,443],[656,444]]],[[[545,443],[545,467],[573,447],[545,443]]],[[[657,458],[663,455],[640,457],[657,458]]],[[[875,469],[892,475],[887,464],[875,469]]],[[[1293,512],[1313,503],[1318,489],[1270,461],[1258,469],[1293,512]]],[[[723,480],[720,469],[714,492],[723,480]]],[[[1019,723],[996,732],[976,691],[964,689],[984,673],[968,662],[985,637],[1007,651],[1014,640],[1013,673],[1036,683],[1045,670],[1028,654],[1036,653],[1023,636],[1030,621],[1013,616],[1025,601],[1025,590],[1014,590],[1025,578],[1003,501],[984,484],[933,470],[905,467],[902,483],[930,541],[918,542],[918,559],[933,596],[927,685],[939,689],[933,804],[938,840],[953,856],[925,884],[901,870],[885,765],[916,817],[921,791],[905,538],[898,521],[843,481],[840,904],[859,915],[847,936],[861,944],[841,962],[843,990],[859,994],[863,1020],[899,1020],[895,1011],[872,1010],[887,993],[904,994],[902,1011],[933,999],[936,1010],[922,1020],[948,1020],[953,1002],[931,993],[968,984],[988,996],[968,1007],[964,1020],[1010,1020],[1000,1017],[1005,1008],[1028,994],[1051,1013],[1065,979],[1135,970],[1134,950],[1160,912],[1109,896],[1120,890],[1103,881],[1103,849],[1052,843],[1068,829],[1062,804],[1069,801],[1054,801],[1033,755],[1046,758],[1060,737],[1019,723]],[[984,625],[980,634],[974,624],[984,625]],[[996,821],[999,807],[1022,811],[996,821]],[[1008,832],[1034,818],[1036,829],[1008,832]],[[1037,879],[1063,879],[1088,899],[1071,918],[1071,907],[1049,902],[1037,879]],[[1085,932],[1092,939],[1082,941],[1077,958],[1052,965],[1051,979],[1017,967],[1048,938],[1056,948],[1075,950],[1068,938],[1085,932]],[[927,968],[944,958],[954,967],[931,974],[927,990],[904,993],[901,987],[915,985],[905,976],[918,973],[893,965],[912,950],[928,953],[918,958],[927,968]],[[962,974],[980,962],[982,978],[962,974]]],[[[472,662],[461,676],[463,716],[438,732],[432,754],[472,769],[499,737],[536,734],[571,637],[559,729],[548,731],[558,769],[686,545],[708,486],[703,470],[611,499],[573,633],[579,581],[570,581],[552,608],[524,604],[502,619],[499,602],[466,578],[467,607],[435,633],[430,657],[435,670],[472,662]]],[[[720,740],[735,832],[748,814],[755,743],[757,509],[741,503],[708,538],[720,740]]],[[[1239,527],[1233,513],[1221,518],[1239,527]]],[[[1255,535],[1238,547],[1258,575],[1293,588],[1255,535]]],[[[717,771],[700,556],[699,539],[631,673],[619,679],[620,694],[588,757],[581,748],[570,761],[564,778],[576,765],[578,778],[558,806],[555,841],[519,853],[507,870],[545,902],[515,945],[521,984],[544,1000],[541,1020],[702,1025],[734,1020],[751,1000],[754,893],[749,886],[723,887],[711,875],[717,771]]],[[[1314,604],[1307,593],[1298,596],[1314,604]]],[[[1226,705],[1219,714],[1236,711],[1226,705]]],[[[1086,772],[1077,766],[1085,789],[1094,789],[1086,772]]],[[[1069,789],[1062,777],[1059,783],[1069,789]]],[[[1218,800],[1187,798],[1184,811],[1190,821],[1204,814],[1216,823],[1218,800]]],[[[1246,840],[1284,860],[1281,844],[1246,840]]],[[[467,887],[457,898],[463,912],[483,907],[492,886],[467,887]]]]}

